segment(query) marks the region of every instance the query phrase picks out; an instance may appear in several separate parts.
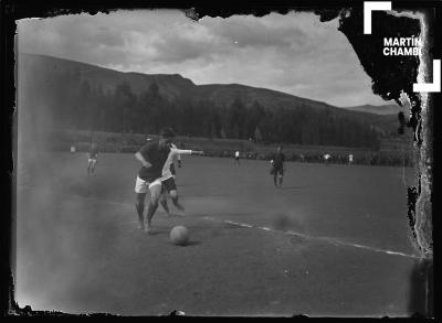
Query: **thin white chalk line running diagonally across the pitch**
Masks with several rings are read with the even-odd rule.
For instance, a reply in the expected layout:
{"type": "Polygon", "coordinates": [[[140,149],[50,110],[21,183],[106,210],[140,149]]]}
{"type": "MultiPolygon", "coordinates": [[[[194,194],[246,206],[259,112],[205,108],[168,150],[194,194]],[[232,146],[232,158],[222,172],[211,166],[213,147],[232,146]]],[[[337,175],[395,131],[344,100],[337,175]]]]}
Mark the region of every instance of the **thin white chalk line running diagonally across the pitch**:
{"type": "MultiPolygon", "coordinates": [[[[22,189],[31,189],[31,187],[23,186],[22,189]]],[[[39,189],[39,190],[41,190],[41,189],[39,189]]],[[[59,194],[59,195],[65,195],[65,196],[71,196],[71,197],[77,197],[77,198],[82,198],[82,200],[98,202],[98,203],[107,203],[107,204],[112,204],[112,205],[118,205],[118,206],[135,208],[134,204],[129,204],[129,203],[118,203],[118,202],[109,201],[109,200],[102,200],[102,198],[96,198],[96,197],[81,196],[81,195],[76,195],[76,194],[60,193],[60,192],[55,192],[53,190],[48,190],[48,189],[46,189],[46,191],[49,191],[50,193],[59,194]]],[[[290,235],[290,236],[299,236],[299,237],[303,237],[303,238],[306,238],[306,239],[322,240],[322,241],[326,241],[326,243],[335,245],[335,246],[338,245],[338,246],[346,246],[346,247],[355,247],[355,248],[365,249],[365,250],[375,251],[375,252],[382,252],[382,254],[387,254],[387,255],[402,256],[402,257],[408,257],[408,258],[420,259],[420,257],[414,256],[414,255],[408,255],[408,254],[403,254],[403,252],[399,252],[399,251],[391,251],[391,250],[386,250],[386,249],[379,249],[379,248],[375,248],[375,247],[364,246],[364,245],[359,245],[359,244],[352,244],[352,243],[343,241],[343,240],[339,240],[339,239],[336,239],[336,238],[330,238],[330,237],[315,237],[315,236],[309,236],[309,235],[306,235],[306,234],[296,233],[296,232],[292,232],[292,230],[281,232],[281,230],[275,230],[275,229],[272,229],[272,228],[269,228],[269,227],[264,227],[264,226],[255,226],[255,225],[251,225],[251,224],[239,223],[239,222],[233,222],[233,220],[228,220],[228,219],[219,219],[219,218],[214,218],[214,217],[211,217],[211,216],[204,216],[202,218],[207,219],[207,220],[211,220],[211,222],[227,223],[227,224],[231,224],[231,225],[235,225],[235,226],[240,226],[240,227],[245,227],[245,228],[254,228],[254,229],[260,229],[260,230],[265,230],[265,232],[271,232],[271,233],[278,233],[278,234],[284,234],[284,235],[290,235]]]]}

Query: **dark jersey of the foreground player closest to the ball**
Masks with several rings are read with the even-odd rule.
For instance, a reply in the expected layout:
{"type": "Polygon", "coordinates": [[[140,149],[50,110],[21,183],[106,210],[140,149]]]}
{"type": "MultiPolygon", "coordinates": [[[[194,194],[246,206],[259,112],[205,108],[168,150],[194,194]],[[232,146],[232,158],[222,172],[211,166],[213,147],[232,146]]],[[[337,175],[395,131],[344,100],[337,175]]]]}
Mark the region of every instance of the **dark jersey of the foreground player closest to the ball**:
{"type": "Polygon", "coordinates": [[[161,177],[162,168],[169,155],[170,148],[161,148],[159,147],[158,141],[154,141],[143,146],[138,152],[151,164],[149,168],[141,166],[138,172],[138,177],[146,182],[154,182],[155,180],[161,177]]]}

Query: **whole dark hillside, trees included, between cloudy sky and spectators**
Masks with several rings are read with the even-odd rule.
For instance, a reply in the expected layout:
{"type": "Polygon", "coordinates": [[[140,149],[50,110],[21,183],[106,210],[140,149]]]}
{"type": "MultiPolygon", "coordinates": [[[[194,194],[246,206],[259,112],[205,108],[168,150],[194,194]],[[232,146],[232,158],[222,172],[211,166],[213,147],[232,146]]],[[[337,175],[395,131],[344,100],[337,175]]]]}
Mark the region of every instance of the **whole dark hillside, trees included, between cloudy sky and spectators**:
{"type": "Polygon", "coordinates": [[[33,54],[20,54],[18,66],[21,110],[43,128],[155,133],[172,125],[187,136],[351,147],[398,128],[397,116],[381,115],[381,107],[344,109],[240,84],[196,85],[178,74],[123,73],[33,54]]]}

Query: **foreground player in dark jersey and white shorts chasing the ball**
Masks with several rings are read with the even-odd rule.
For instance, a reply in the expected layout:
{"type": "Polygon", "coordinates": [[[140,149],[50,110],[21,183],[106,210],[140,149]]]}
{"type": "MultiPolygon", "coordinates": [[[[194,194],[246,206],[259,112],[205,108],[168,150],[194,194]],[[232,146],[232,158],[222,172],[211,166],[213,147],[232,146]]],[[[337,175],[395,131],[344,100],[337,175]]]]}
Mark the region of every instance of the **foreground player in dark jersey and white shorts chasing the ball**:
{"type": "Polygon", "coordinates": [[[162,191],[164,173],[167,175],[167,170],[170,171],[169,161],[179,153],[183,154],[202,154],[202,151],[179,150],[170,147],[170,142],[175,137],[171,128],[164,128],[160,131],[160,138],[147,142],[141,149],[135,153],[135,158],[141,163],[141,169],[138,172],[135,183],[136,193],[136,209],[138,214],[139,228],[146,233],[151,230],[151,219],[158,208],[159,200],[162,191]],[[150,192],[150,201],[147,208],[147,223],[145,226],[145,198],[147,191],[150,192]]]}

